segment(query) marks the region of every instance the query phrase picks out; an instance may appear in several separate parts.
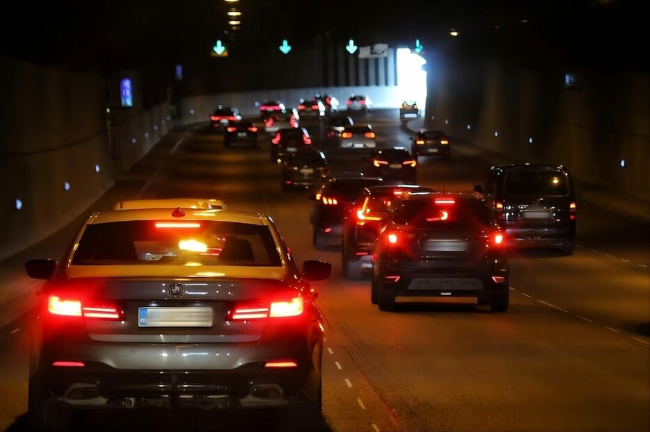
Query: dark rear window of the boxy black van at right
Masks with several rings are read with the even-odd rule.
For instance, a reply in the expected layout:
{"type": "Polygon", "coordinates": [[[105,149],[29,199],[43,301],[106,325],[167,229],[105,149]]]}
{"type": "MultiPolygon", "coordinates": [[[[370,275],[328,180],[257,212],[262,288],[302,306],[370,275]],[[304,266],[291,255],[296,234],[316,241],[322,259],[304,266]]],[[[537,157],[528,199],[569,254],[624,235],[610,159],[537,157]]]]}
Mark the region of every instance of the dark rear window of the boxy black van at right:
{"type": "Polygon", "coordinates": [[[507,171],[504,183],[506,196],[569,195],[569,178],[562,169],[521,167],[507,171]]]}

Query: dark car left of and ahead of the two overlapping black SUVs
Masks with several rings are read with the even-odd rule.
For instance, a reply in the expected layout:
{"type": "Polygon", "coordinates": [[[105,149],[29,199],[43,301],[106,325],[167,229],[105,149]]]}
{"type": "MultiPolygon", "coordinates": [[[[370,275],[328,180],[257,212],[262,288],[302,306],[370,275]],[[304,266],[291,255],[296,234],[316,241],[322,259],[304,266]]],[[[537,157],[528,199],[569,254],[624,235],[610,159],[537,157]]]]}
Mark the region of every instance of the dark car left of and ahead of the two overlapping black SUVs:
{"type": "Polygon", "coordinates": [[[381,178],[333,177],[310,194],[310,199],[315,201],[310,222],[314,229],[313,241],[316,249],[323,250],[328,246],[341,244],[343,220],[358,202],[361,191],[380,183],[381,178]]]}

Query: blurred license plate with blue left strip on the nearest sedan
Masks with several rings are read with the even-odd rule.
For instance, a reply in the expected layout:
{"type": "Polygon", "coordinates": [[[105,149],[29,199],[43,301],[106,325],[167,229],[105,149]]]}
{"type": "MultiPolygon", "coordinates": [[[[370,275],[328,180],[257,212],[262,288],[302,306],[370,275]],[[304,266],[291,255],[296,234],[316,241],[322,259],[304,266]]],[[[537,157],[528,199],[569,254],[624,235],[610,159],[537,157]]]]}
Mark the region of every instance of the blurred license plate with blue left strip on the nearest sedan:
{"type": "Polygon", "coordinates": [[[138,308],[140,327],[212,327],[212,308],[138,308]]]}

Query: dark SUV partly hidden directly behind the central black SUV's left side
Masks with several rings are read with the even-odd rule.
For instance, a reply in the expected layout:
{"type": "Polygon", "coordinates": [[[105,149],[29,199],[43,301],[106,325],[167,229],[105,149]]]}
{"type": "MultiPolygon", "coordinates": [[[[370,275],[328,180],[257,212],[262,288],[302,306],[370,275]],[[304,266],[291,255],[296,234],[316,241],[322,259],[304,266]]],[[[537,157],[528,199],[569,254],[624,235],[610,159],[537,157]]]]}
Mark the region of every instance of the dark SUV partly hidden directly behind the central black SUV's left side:
{"type": "Polygon", "coordinates": [[[365,188],[343,222],[342,267],[347,279],[361,279],[364,269],[372,269],[372,250],[395,202],[407,192],[433,192],[418,185],[381,185],[365,188]]]}

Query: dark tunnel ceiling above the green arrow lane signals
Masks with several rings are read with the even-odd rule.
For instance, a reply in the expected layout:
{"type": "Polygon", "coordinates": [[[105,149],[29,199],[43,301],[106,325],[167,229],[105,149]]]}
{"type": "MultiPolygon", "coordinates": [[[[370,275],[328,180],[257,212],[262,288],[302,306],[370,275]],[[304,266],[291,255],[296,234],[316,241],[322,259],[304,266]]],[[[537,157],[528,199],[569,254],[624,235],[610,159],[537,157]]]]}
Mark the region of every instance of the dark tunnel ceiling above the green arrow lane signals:
{"type": "Polygon", "coordinates": [[[219,38],[232,49],[277,49],[287,38],[299,52],[324,38],[358,44],[412,44],[467,56],[520,62],[647,67],[643,1],[314,1],[223,0],[3,2],[1,52],[35,63],[118,69],[166,65],[205,56],[219,38]],[[228,32],[226,11],[242,12],[228,32]],[[447,34],[457,28],[452,42],[447,34]]]}

